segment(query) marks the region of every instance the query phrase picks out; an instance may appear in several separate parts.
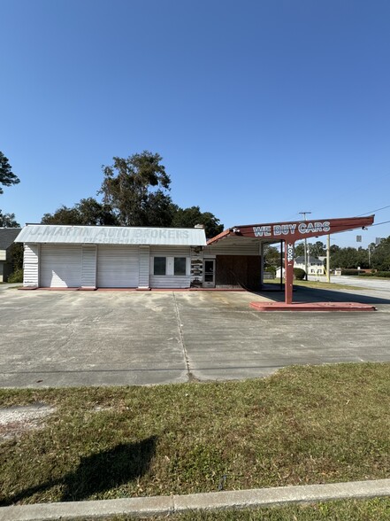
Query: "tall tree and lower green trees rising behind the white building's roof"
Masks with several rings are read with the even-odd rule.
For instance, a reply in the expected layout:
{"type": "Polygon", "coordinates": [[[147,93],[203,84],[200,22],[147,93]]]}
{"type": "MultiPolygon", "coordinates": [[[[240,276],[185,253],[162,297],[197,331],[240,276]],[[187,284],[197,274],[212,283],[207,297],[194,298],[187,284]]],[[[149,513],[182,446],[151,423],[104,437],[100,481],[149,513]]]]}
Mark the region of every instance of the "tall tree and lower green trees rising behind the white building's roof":
{"type": "Polygon", "coordinates": [[[161,164],[161,156],[141,152],[128,158],[113,158],[103,167],[103,183],[95,198],[81,199],[74,206],[60,206],[54,214],[44,214],[43,224],[152,226],[192,228],[203,224],[206,237],[214,237],[224,227],[210,212],[199,206],[180,208],[169,195],[171,177],[161,164]]]}

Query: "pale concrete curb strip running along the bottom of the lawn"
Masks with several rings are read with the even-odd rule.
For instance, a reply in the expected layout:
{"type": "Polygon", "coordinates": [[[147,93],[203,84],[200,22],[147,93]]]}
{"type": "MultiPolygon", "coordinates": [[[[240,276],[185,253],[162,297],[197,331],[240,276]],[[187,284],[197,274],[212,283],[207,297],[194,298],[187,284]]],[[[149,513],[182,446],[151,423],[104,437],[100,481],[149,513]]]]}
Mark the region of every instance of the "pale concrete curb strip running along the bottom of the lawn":
{"type": "Polygon", "coordinates": [[[390,496],[390,479],[353,481],[329,485],[282,486],[172,496],[139,497],[90,502],[40,503],[3,507],[0,521],[51,521],[61,519],[107,519],[167,516],[196,510],[255,509],[293,503],[325,502],[343,499],[369,499],[390,496]]]}

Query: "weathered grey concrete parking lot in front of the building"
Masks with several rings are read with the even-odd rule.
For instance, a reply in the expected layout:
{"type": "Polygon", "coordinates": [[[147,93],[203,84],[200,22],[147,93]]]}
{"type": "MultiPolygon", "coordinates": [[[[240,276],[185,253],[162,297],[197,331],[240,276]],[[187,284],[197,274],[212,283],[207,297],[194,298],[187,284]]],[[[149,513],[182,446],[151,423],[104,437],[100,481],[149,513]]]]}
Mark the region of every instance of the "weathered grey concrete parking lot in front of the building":
{"type": "MultiPolygon", "coordinates": [[[[281,298],[269,294],[268,297],[281,298]]],[[[390,295],[389,295],[390,297],[390,295]]],[[[0,386],[153,385],[264,377],[291,364],[390,361],[390,299],[371,313],[261,313],[249,292],[0,291],[0,386]]]]}

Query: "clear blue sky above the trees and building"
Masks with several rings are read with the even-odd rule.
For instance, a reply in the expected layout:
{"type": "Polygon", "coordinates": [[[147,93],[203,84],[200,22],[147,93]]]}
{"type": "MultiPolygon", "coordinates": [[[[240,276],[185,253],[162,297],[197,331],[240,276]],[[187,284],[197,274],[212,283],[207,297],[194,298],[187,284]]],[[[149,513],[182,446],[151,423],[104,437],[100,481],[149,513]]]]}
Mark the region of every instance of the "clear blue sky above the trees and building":
{"type": "Polygon", "coordinates": [[[388,0],[0,0],[0,23],[0,150],[20,178],[0,208],[21,224],[143,150],[176,204],[226,228],[390,206],[388,0]]]}

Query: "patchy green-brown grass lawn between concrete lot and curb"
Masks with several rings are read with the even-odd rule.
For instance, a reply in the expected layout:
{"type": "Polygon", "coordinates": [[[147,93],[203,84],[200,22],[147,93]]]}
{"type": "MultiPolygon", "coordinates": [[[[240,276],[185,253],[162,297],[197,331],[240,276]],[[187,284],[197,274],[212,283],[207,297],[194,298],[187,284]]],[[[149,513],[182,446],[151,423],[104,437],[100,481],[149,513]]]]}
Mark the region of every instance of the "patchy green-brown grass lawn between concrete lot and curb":
{"type": "Polygon", "coordinates": [[[362,363],[244,382],[0,390],[3,408],[55,408],[0,443],[0,505],[388,478],[389,382],[390,364],[362,363]]]}

